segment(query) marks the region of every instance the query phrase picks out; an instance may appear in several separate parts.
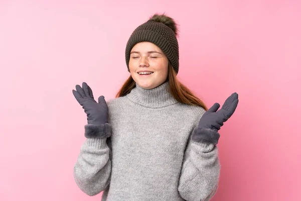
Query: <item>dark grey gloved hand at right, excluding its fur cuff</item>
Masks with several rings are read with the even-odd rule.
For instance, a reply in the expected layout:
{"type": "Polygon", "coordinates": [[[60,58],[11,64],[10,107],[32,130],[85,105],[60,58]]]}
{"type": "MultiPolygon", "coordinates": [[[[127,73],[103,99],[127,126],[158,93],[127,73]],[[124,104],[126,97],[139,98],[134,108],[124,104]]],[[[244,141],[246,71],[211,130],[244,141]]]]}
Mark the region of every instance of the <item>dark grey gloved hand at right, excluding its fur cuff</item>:
{"type": "Polygon", "coordinates": [[[222,108],[217,111],[220,107],[218,103],[215,103],[205,114],[202,116],[199,122],[199,128],[209,128],[215,131],[220,130],[221,126],[224,125],[234,113],[238,104],[238,94],[232,93],[225,101],[222,108]],[[217,112],[216,112],[217,111],[217,112]]]}

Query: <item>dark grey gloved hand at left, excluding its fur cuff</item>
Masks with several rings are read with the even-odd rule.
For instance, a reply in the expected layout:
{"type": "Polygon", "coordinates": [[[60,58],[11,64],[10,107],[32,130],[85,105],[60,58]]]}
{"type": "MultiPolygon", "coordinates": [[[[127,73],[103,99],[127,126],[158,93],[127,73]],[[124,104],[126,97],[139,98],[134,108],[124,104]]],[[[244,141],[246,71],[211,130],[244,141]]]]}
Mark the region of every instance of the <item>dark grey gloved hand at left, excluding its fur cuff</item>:
{"type": "Polygon", "coordinates": [[[82,88],[76,85],[76,90],[72,90],[77,102],[83,107],[87,114],[88,124],[100,126],[108,123],[108,106],[104,96],[98,97],[98,103],[94,100],[92,89],[86,82],[83,82],[82,88]]]}

